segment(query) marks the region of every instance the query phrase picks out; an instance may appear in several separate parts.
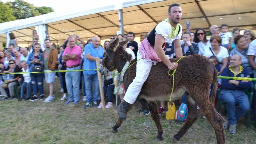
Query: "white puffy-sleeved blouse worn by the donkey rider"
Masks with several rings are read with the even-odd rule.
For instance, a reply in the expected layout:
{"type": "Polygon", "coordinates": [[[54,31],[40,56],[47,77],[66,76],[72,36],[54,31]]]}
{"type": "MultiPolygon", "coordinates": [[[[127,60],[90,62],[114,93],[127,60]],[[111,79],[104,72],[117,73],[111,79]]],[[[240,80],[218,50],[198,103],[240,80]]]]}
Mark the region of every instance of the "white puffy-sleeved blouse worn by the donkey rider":
{"type": "Polygon", "coordinates": [[[175,30],[172,30],[172,26],[166,21],[162,21],[159,24],[157,24],[155,34],[161,34],[164,37],[165,43],[172,44],[174,40],[180,39],[182,36],[182,26],[180,24],[179,26],[180,26],[180,31],[175,38],[168,38],[168,35],[171,33],[171,31],[175,31],[175,30]]]}

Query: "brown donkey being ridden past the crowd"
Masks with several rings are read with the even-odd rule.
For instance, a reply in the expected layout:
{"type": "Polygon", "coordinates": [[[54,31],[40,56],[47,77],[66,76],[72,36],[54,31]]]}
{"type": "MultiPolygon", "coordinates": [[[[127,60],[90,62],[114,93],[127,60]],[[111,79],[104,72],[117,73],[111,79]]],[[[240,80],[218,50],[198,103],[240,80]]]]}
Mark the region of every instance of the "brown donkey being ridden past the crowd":
{"type": "MultiPolygon", "coordinates": [[[[102,64],[99,68],[101,74],[106,74],[108,71],[112,71],[115,68],[118,72],[121,72],[125,63],[131,60],[131,55],[122,49],[122,46],[126,43],[127,40],[119,43],[119,40],[116,39],[110,44],[110,47],[106,49],[104,53],[102,64]]],[[[170,59],[171,62],[177,60],[178,58],[170,59]]],[[[136,59],[131,61],[131,64],[135,61],[136,59]]],[[[143,59],[140,61],[143,61],[143,59]]],[[[170,73],[172,72],[173,71],[170,71],[170,73]]],[[[135,75],[136,64],[129,67],[124,74],[123,81],[125,90],[127,90],[135,75]]],[[[172,80],[173,78],[168,75],[168,67],[166,67],[166,65],[162,62],[153,65],[137,98],[144,108],[150,109],[152,119],[155,121],[158,130],[156,141],[163,140],[163,129],[157,112],[156,101],[169,100],[173,83],[172,80]]],[[[216,91],[217,70],[207,58],[200,55],[191,55],[179,61],[175,73],[172,100],[180,99],[185,92],[188,92],[187,106],[189,111],[184,126],[173,136],[175,141],[178,141],[197,119],[196,106],[198,105],[201,113],[207,117],[214,128],[217,143],[225,143],[224,129],[222,126],[223,117],[221,117],[214,108],[216,91]],[[213,83],[213,88],[209,97],[211,83],[213,83]]],[[[122,119],[119,118],[112,131],[117,132],[121,123],[122,119]]]]}

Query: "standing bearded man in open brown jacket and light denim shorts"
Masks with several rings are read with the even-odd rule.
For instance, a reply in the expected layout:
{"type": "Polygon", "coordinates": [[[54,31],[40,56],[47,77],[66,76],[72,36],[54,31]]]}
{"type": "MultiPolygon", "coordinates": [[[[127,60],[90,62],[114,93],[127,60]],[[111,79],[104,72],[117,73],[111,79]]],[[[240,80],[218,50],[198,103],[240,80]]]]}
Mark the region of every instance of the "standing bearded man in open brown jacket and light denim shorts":
{"type": "Polygon", "coordinates": [[[50,94],[44,102],[51,102],[55,98],[53,95],[53,89],[56,74],[56,72],[51,71],[56,70],[58,68],[58,65],[56,65],[55,63],[55,61],[58,61],[58,50],[54,47],[51,47],[50,39],[45,39],[45,46],[46,49],[43,51],[45,81],[46,83],[49,83],[50,94]]]}

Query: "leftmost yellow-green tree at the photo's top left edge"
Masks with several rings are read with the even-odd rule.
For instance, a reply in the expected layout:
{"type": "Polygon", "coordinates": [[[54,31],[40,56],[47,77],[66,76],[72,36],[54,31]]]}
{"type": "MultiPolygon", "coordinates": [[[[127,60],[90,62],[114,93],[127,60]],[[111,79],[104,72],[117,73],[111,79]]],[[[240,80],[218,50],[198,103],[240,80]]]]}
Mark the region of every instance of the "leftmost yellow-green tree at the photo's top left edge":
{"type": "Polygon", "coordinates": [[[13,9],[0,1],[0,23],[15,20],[13,9]]]}

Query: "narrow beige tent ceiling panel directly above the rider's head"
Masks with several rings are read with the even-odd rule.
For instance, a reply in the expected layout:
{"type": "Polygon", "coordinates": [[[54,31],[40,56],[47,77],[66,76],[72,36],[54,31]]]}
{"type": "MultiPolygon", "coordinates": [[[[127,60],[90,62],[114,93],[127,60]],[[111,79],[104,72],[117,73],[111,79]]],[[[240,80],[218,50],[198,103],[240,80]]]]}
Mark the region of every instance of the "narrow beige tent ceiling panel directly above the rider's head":
{"type": "Polygon", "coordinates": [[[154,8],[154,7],[160,7],[160,6],[170,6],[172,3],[189,3],[194,2],[194,0],[168,0],[168,1],[159,1],[154,3],[147,3],[140,5],[143,9],[144,8],[154,8]]]}

